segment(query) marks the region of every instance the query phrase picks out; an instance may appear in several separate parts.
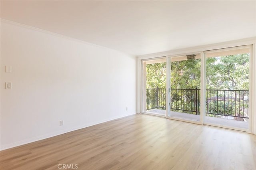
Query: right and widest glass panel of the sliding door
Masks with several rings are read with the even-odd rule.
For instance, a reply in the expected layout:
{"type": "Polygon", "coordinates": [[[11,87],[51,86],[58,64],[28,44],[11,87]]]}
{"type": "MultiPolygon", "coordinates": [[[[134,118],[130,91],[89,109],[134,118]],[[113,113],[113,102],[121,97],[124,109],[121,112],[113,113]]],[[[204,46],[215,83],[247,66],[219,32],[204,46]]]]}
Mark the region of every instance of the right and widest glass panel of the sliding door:
{"type": "Polygon", "coordinates": [[[249,128],[250,48],[206,51],[205,124],[249,128]]]}

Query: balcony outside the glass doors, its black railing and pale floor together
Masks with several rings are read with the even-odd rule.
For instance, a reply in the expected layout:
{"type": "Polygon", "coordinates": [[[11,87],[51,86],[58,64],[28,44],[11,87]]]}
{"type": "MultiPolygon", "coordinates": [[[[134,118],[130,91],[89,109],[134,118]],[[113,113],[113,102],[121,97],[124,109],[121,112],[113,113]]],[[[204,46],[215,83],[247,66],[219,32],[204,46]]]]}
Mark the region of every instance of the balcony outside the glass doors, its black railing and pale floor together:
{"type": "MultiPolygon", "coordinates": [[[[200,89],[171,89],[171,117],[200,120],[200,89]]],[[[248,90],[206,89],[205,121],[248,128],[248,90]],[[217,119],[219,118],[219,119],[217,119]]],[[[146,89],[146,112],[165,115],[166,89],[146,89]]]]}

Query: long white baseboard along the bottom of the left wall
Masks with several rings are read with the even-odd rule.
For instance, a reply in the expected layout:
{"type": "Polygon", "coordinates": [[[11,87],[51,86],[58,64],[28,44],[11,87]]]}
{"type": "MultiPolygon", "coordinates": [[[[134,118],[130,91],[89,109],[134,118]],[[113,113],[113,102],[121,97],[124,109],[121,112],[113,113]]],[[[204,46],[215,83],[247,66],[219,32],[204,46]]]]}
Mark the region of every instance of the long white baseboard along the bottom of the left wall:
{"type": "Polygon", "coordinates": [[[135,115],[135,114],[136,113],[124,114],[124,115],[120,115],[120,116],[117,116],[117,117],[112,117],[110,119],[104,119],[104,120],[101,120],[101,121],[96,121],[96,122],[93,122],[93,123],[90,123],[90,124],[87,124],[87,125],[84,125],[84,126],[74,127],[74,128],[64,129],[64,130],[58,130],[56,132],[35,136],[35,137],[32,137],[32,138],[28,138],[28,139],[25,139],[25,140],[20,140],[20,141],[13,142],[13,143],[10,143],[10,144],[4,144],[4,145],[1,146],[0,150],[6,150],[6,149],[13,148],[13,147],[16,147],[16,146],[20,146],[20,145],[23,145],[23,144],[36,142],[38,140],[43,140],[43,139],[50,138],[50,137],[53,137],[53,136],[57,136],[57,135],[60,135],[60,134],[64,134],[64,133],[67,133],[67,132],[72,132],[74,130],[78,130],[78,129],[81,129],[81,128],[86,128],[86,127],[90,127],[90,126],[93,126],[93,125],[98,125],[100,123],[105,123],[105,122],[108,122],[108,121],[112,121],[112,120],[115,120],[115,119],[119,119],[119,118],[130,116],[130,115],[135,115]]]}

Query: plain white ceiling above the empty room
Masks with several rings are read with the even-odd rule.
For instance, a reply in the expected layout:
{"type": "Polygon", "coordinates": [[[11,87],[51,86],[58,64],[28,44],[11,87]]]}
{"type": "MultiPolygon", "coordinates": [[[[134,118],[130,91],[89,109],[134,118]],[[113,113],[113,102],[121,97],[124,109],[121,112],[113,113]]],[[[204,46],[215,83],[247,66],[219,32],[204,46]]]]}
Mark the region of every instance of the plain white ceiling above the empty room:
{"type": "Polygon", "coordinates": [[[1,1],[1,18],[132,55],[256,36],[256,1],[1,1]]]}

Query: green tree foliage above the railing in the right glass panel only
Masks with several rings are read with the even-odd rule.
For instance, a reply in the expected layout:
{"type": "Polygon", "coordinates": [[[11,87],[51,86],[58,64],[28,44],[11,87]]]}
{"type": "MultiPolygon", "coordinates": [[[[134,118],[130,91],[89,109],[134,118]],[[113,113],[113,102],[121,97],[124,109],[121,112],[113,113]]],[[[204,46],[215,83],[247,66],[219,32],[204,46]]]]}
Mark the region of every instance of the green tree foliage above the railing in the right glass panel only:
{"type": "Polygon", "coordinates": [[[206,59],[206,89],[249,89],[249,54],[206,59]]]}

